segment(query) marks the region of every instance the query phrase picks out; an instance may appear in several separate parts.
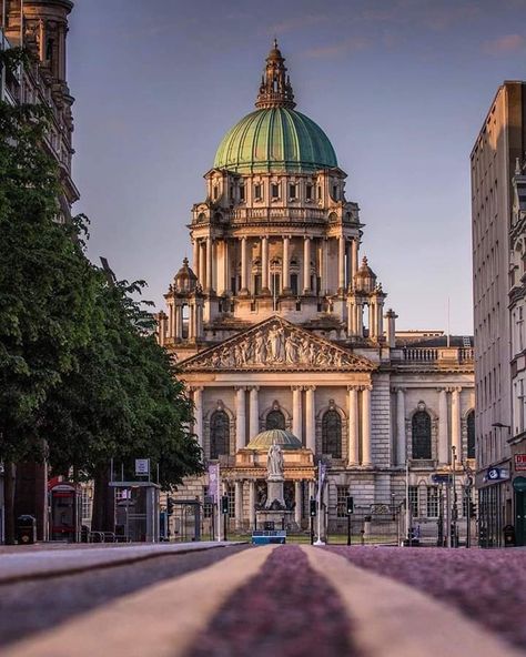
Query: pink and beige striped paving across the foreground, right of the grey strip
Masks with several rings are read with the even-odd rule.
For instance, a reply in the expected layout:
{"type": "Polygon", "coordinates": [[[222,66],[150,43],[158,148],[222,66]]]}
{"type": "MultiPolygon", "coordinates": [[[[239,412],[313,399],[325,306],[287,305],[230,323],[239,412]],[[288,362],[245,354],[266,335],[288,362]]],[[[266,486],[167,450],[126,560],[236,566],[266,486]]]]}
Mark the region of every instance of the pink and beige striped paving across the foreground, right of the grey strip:
{"type": "MultiPolygon", "coordinates": [[[[108,558],[114,552],[107,550],[108,558]]],[[[191,562],[203,554],[208,565],[33,633],[9,644],[2,655],[526,655],[526,637],[509,627],[524,624],[525,552],[285,545],[237,546],[232,553],[210,547],[172,558],[191,562]],[[520,589],[516,595],[514,582],[520,589]],[[477,598],[473,607],[465,604],[469,595],[477,598]],[[517,611],[509,615],[513,605],[517,611]],[[507,621],[500,609],[508,613],[507,621]]],[[[100,573],[101,562],[89,567],[100,573]]],[[[120,567],[108,565],[100,576],[120,567]]],[[[127,567],[139,573],[144,564],[127,567]]]]}

